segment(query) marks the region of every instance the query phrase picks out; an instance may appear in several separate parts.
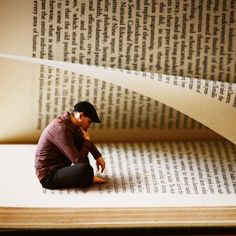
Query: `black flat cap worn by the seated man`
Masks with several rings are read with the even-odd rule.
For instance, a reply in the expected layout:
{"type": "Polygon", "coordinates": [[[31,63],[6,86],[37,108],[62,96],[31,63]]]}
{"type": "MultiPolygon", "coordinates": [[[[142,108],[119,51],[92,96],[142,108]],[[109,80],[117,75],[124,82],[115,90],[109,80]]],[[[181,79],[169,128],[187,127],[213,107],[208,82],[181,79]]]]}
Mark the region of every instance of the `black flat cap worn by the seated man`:
{"type": "Polygon", "coordinates": [[[95,123],[101,123],[98,114],[96,112],[96,109],[94,106],[87,102],[87,101],[82,101],[78,102],[77,104],[74,105],[74,112],[83,112],[86,116],[92,119],[93,122],[95,123]]]}

